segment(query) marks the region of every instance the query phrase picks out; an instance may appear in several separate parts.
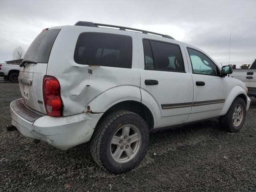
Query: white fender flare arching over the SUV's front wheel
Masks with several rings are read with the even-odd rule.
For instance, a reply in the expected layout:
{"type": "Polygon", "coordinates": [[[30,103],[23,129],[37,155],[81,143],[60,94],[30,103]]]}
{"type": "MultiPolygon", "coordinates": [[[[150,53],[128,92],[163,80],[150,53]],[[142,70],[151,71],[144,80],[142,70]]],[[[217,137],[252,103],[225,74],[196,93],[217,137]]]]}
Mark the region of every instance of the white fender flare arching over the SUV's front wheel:
{"type": "Polygon", "coordinates": [[[230,108],[232,102],[240,94],[244,94],[247,97],[246,92],[245,92],[244,88],[242,88],[242,86],[240,86],[240,85],[234,86],[232,88],[232,90],[229,92],[229,94],[227,95],[224,107],[222,108],[222,110],[220,112],[220,116],[225,115],[228,112],[228,109],[230,108]]]}

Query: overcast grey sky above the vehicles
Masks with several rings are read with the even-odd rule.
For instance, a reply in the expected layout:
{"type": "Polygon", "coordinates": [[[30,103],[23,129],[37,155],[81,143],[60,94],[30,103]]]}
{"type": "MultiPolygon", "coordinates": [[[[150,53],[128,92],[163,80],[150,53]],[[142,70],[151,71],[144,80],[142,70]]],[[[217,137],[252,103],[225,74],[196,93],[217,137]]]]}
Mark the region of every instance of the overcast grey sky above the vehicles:
{"type": "Polygon", "coordinates": [[[42,29],[79,20],[168,34],[223,65],[231,33],[230,64],[256,58],[256,0],[0,0],[0,63],[42,29]]]}

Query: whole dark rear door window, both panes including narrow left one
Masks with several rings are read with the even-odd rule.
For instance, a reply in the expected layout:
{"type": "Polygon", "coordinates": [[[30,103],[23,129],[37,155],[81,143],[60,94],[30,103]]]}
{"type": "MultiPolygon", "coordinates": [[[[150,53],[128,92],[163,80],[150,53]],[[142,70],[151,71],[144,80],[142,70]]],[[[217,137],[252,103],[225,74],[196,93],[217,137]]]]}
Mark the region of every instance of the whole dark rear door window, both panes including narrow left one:
{"type": "Polygon", "coordinates": [[[175,44],[143,40],[145,69],[184,72],[180,47],[175,44]]]}

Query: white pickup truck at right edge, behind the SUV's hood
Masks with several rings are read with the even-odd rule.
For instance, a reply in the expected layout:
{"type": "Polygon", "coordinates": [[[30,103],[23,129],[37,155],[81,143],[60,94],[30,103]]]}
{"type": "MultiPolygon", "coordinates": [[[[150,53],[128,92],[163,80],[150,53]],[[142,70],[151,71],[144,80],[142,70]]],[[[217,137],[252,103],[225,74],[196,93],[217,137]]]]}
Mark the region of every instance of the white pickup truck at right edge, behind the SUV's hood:
{"type": "Polygon", "coordinates": [[[248,88],[247,95],[256,98],[256,60],[248,69],[234,69],[230,76],[244,82],[248,88]]]}

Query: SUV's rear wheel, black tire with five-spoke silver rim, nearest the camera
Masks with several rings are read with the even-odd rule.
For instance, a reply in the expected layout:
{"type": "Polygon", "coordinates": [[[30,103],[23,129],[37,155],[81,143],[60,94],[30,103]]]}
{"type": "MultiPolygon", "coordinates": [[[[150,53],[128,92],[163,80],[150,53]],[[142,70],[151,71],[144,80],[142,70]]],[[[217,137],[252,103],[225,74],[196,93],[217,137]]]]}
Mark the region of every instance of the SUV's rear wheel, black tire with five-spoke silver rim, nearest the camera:
{"type": "Polygon", "coordinates": [[[100,167],[112,173],[122,173],[141,162],[148,139],[148,126],[143,118],[133,112],[116,111],[98,124],[90,149],[100,167]]]}

